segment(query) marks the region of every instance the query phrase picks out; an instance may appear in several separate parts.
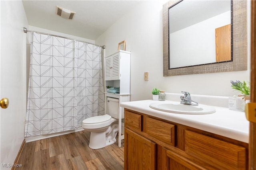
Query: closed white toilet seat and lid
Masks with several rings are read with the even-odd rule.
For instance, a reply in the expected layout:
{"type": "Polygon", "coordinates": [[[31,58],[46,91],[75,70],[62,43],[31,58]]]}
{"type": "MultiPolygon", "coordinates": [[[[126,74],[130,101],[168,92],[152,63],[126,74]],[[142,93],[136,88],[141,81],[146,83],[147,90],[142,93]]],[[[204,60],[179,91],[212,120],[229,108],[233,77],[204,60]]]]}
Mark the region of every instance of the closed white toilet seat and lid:
{"type": "Polygon", "coordinates": [[[117,119],[110,115],[94,116],[83,120],[82,127],[84,129],[98,129],[111,125],[117,119]]]}

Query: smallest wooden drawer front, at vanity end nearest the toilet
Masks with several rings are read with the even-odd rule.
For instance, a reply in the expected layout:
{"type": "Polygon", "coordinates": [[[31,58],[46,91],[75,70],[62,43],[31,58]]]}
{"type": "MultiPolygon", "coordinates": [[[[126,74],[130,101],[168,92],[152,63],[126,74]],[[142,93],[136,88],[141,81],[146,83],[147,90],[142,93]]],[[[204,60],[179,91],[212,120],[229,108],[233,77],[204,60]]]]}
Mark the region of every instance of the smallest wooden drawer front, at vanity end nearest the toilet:
{"type": "Polygon", "coordinates": [[[142,115],[124,111],[124,126],[142,131],[142,115]]]}

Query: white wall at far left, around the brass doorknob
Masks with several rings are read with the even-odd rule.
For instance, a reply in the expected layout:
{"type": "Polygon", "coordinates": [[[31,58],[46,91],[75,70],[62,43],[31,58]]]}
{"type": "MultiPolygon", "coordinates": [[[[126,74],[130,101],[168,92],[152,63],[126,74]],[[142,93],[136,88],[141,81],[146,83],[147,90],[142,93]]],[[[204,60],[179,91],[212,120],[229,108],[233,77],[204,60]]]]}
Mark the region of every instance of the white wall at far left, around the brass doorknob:
{"type": "Polygon", "coordinates": [[[7,109],[1,111],[0,169],[14,162],[24,140],[26,117],[26,35],[28,26],[22,1],[1,0],[1,98],[9,98],[7,109]]]}

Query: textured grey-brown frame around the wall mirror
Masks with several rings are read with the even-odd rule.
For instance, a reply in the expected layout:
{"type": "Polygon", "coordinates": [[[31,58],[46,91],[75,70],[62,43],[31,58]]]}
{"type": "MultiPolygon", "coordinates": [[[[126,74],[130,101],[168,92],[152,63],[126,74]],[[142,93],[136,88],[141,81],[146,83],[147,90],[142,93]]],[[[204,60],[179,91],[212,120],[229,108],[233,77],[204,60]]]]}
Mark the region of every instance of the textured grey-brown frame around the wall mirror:
{"type": "MultiPolygon", "coordinates": [[[[186,1],[186,0],[183,0],[183,1],[186,1]]],[[[196,3],[196,2],[197,1],[193,1],[193,3],[196,3]]],[[[169,9],[176,5],[182,5],[182,2],[180,0],[171,0],[163,5],[163,69],[164,69],[163,73],[164,73],[164,76],[247,70],[246,0],[232,1],[232,3],[230,4],[231,4],[230,8],[232,12],[231,16],[233,16],[233,18],[230,18],[230,20],[232,21],[231,22],[231,25],[232,25],[232,41],[231,41],[232,42],[232,59],[231,61],[226,60],[226,61],[215,62],[215,63],[209,62],[204,64],[191,64],[188,66],[181,66],[181,67],[178,66],[176,68],[170,67],[171,64],[170,64],[170,39],[169,39],[170,38],[169,9]]],[[[184,39],[184,41],[185,40],[186,39],[184,39]]],[[[213,42],[213,43],[216,43],[216,42],[213,42]]],[[[204,48],[203,50],[207,50],[207,49],[204,48]]],[[[195,57],[195,55],[191,57],[195,57]]],[[[179,60],[180,62],[184,61],[184,59],[182,58],[178,59],[178,61],[179,60]]],[[[200,60],[200,59],[194,59],[194,60],[200,60]]]]}

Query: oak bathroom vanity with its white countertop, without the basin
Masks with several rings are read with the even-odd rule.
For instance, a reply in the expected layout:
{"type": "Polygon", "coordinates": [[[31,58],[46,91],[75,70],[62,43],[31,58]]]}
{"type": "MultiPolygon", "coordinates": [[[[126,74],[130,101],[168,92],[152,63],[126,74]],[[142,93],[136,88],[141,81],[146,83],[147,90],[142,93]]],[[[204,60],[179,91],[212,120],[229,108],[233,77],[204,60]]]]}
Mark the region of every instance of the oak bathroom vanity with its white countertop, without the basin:
{"type": "Polygon", "coordinates": [[[205,115],[168,113],[150,108],[152,102],[121,103],[125,170],[247,169],[244,112],[215,107],[215,113],[205,115]]]}

